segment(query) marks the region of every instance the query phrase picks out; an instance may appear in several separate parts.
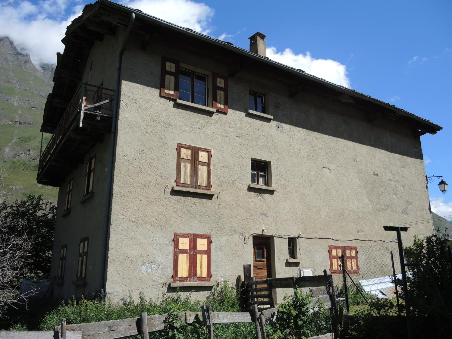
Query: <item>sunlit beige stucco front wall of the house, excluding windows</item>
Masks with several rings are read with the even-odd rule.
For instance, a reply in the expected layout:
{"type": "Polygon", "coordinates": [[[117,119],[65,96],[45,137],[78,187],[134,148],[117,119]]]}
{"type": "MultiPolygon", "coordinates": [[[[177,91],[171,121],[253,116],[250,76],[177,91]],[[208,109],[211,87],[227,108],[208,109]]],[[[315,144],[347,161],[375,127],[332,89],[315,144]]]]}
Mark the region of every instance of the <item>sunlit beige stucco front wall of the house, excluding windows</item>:
{"type": "MultiPolygon", "coordinates": [[[[267,235],[394,240],[383,226],[430,217],[420,141],[406,125],[368,122],[367,112],[308,90],[290,98],[282,82],[246,69],[229,79],[229,113],[207,114],[159,96],[162,55],[223,75],[230,66],[158,40],[142,50],[131,37],[108,253],[113,300],[172,291],[174,232],[210,234],[212,281],[235,282],[252,262],[252,239],[243,236],[263,226],[267,235]],[[272,121],[246,113],[250,89],[266,94],[272,121]],[[213,198],[171,190],[178,142],[212,149],[213,198]],[[271,161],[273,194],[248,189],[250,158],[271,161]]],[[[431,228],[412,227],[405,244],[431,228]]],[[[298,266],[285,264],[287,240],[274,241],[275,277],[297,275],[299,268],[322,274],[329,270],[328,245],[358,251],[362,245],[300,240],[298,266]]]]}

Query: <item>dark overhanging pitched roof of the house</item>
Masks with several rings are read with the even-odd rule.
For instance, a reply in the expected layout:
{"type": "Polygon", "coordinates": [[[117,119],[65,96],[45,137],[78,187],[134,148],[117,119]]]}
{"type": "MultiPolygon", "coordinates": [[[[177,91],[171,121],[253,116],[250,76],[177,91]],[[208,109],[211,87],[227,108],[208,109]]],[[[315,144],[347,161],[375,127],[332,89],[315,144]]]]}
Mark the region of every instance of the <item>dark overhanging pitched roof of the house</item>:
{"type": "MultiPolygon", "coordinates": [[[[160,28],[174,34],[179,35],[182,34],[186,38],[197,40],[200,43],[210,45],[212,48],[215,47],[217,49],[220,49],[222,52],[228,52],[231,55],[235,55],[237,58],[240,58],[241,60],[252,62],[253,67],[261,68],[265,67],[267,70],[272,71],[273,73],[274,72],[284,73],[287,77],[290,77],[289,83],[292,82],[295,91],[297,89],[301,90],[303,86],[307,85],[309,87],[314,88],[315,90],[334,93],[335,98],[343,102],[358,104],[360,106],[365,105],[366,107],[369,107],[369,105],[371,105],[372,106],[371,113],[373,112],[372,113],[373,118],[387,116],[394,120],[402,120],[406,123],[411,124],[413,127],[418,128],[420,130],[418,132],[418,135],[422,135],[425,133],[435,134],[437,131],[443,129],[443,127],[433,122],[430,122],[427,119],[420,118],[417,115],[414,115],[413,113],[405,111],[404,109],[397,108],[394,105],[372,98],[371,96],[357,92],[354,89],[348,89],[344,86],[336,85],[330,81],[316,77],[315,75],[308,74],[300,69],[284,65],[278,61],[271,60],[268,57],[260,56],[252,52],[249,52],[243,48],[233,46],[230,42],[224,42],[209,37],[205,34],[195,32],[190,28],[180,27],[176,24],[172,24],[168,21],[156,18],[150,14],[146,14],[139,9],[132,9],[130,7],[117,4],[110,0],[98,0],[94,4],[86,5],[85,9],[83,10],[83,14],[80,17],[74,19],[74,21],[72,21],[72,23],[67,27],[66,37],[62,40],[63,43],[65,43],[66,48],[65,52],[63,53],[63,56],[60,57],[58,60],[57,69],[54,77],[55,82],[54,91],[57,85],[57,81],[59,80],[60,77],[59,75],[60,71],[63,71],[63,74],[64,72],[67,73],[67,70],[65,71],[59,69],[60,64],[64,62],[63,59],[64,55],[66,54],[66,49],[71,50],[72,48],[72,50],[74,50],[74,47],[78,48],[80,44],[80,40],[77,40],[76,37],[74,38],[72,36],[74,34],[75,36],[77,34],[81,34],[80,29],[86,31],[85,28],[86,22],[96,15],[99,16],[98,12],[102,12],[104,9],[108,9],[113,13],[119,14],[118,16],[101,14],[100,17],[108,24],[113,24],[113,26],[127,25],[129,20],[128,18],[132,13],[135,13],[136,21],[133,29],[140,31],[141,33],[146,33],[145,31],[149,30],[149,24],[151,24],[153,27],[160,28]],[[141,24],[139,24],[140,21],[141,24]],[[76,44],[76,46],[71,47],[71,45],[73,45],[74,43],[76,44]]],[[[102,29],[107,30],[108,28],[104,27],[102,29]]],[[[114,31],[114,27],[110,29],[114,31]]],[[[97,33],[99,33],[99,30],[97,30],[97,33]]],[[[85,46],[85,49],[86,48],[90,48],[90,46],[85,46]]],[[[80,66],[81,65],[79,65],[79,68],[80,66]]],[[[45,130],[46,118],[48,115],[47,111],[52,105],[52,95],[49,95],[49,99],[47,100],[46,109],[44,112],[43,130],[45,130]]],[[[58,98],[55,99],[58,100],[58,98]]],[[[52,124],[49,125],[48,128],[49,130],[52,129],[51,125],[52,124]]]]}

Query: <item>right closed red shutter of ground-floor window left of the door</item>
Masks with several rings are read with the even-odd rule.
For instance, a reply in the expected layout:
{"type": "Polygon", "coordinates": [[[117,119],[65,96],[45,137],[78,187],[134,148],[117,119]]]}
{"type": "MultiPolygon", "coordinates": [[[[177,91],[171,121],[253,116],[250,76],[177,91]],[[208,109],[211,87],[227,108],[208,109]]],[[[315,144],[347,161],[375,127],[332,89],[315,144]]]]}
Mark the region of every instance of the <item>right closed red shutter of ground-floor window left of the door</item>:
{"type": "Polygon", "coordinates": [[[210,235],[193,234],[193,277],[210,281],[210,235]]]}

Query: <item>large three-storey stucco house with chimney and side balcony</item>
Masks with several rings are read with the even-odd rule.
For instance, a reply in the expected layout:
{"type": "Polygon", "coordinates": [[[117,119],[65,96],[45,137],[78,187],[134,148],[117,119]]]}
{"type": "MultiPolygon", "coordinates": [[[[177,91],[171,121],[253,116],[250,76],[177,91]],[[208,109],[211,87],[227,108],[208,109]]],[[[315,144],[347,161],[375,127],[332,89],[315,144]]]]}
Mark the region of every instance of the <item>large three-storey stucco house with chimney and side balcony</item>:
{"type": "Polygon", "coordinates": [[[342,252],[359,276],[383,226],[430,218],[419,137],[442,127],[269,60],[262,33],[246,51],[99,0],[62,41],[38,170],[60,188],[55,296],[204,296],[342,252]]]}

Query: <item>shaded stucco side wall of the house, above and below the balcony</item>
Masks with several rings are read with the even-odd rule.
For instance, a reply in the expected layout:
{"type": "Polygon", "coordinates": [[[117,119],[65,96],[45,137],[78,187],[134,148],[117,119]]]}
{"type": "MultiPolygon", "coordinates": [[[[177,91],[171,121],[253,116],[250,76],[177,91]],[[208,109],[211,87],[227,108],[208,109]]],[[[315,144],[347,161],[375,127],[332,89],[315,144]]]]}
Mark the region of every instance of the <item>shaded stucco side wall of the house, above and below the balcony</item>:
{"type": "MultiPolygon", "coordinates": [[[[104,81],[104,87],[114,88],[116,79],[116,56],[118,55],[118,39],[106,36],[103,42],[95,42],[86,61],[83,82],[99,85],[104,81]],[[91,61],[92,70],[90,71],[91,61]]],[[[64,284],[55,284],[53,293],[57,297],[91,297],[100,287],[100,255],[102,247],[102,226],[106,200],[106,181],[108,168],[108,150],[110,147],[110,134],[104,136],[102,144],[91,149],[83,164],[72,170],[66,181],[61,184],[58,192],[56,207],[56,226],[53,240],[51,277],[58,275],[61,245],[67,244],[66,273],[64,284]],[[83,204],[85,189],[86,163],[89,157],[96,155],[94,175],[94,197],[83,204]],[[71,178],[74,178],[72,192],[71,213],[62,217],[66,203],[66,187],[71,178]],[[80,239],[88,236],[88,266],[86,271],[86,286],[75,286],[79,243],[80,239]]]]}

